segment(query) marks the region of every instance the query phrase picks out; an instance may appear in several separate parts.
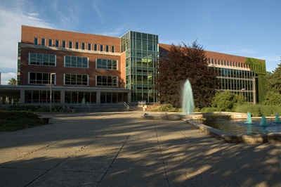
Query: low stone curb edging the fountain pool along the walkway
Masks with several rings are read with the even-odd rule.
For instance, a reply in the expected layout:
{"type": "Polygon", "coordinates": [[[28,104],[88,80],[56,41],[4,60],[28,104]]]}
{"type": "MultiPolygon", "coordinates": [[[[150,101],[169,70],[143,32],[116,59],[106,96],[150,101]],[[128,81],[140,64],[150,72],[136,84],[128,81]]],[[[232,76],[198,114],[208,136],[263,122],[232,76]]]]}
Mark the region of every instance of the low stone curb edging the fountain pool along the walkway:
{"type": "Polygon", "coordinates": [[[222,138],[228,143],[247,143],[247,144],[256,144],[256,143],[273,143],[281,144],[281,133],[269,133],[269,134],[254,134],[254,135],[240,135],[240,134],[231,134],[225,131],[214,129],[205,124],[197,124],[192,122],[192,120],[183,119],[184,122],[192,124],[197,129],[200,129],[206,134],[215,136],[217,138],[222,138]]]}

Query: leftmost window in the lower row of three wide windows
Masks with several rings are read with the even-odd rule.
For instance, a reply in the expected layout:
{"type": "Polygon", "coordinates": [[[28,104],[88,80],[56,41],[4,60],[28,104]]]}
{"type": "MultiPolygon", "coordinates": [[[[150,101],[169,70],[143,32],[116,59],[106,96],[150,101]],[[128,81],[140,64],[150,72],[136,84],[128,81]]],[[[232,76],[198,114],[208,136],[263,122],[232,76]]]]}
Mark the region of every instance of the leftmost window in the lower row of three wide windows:
{"type": "MultiPolygon", "coordinates": [[[[50,84],[51,73],[46,72],[28,72],[29,82],[28,84],[50,84]]],[[[55,75],[52,74],[52,84],[55,84],[55,75]]]]}

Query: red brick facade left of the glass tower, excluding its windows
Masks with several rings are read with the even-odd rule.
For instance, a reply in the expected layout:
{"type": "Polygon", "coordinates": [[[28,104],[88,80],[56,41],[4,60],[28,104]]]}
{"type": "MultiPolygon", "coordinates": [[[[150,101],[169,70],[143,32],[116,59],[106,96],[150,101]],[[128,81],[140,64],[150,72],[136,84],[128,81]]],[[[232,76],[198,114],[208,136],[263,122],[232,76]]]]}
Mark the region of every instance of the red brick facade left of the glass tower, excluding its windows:
{"type": "MultiPolygon", "coordinates": [[[[28,72],[50,72],[56,74],[56,86],[64,86],[64,73],[79,73],[89,75],[89,86],[96,86],[96,75],[111,75],[118,77],[118,86],[125,86],[125,63],[124,57],[120,56],[121,39],[116,37],[106,37],[96,34],[83,34],[77,32],[67,32],[60,30],[50,30],[38,27],[22,26],[22,39],[20,56],[20,83],[28,84],[28,72]],[[38,45],[34,45],[34,38],[38,39],[38,45]],[[41,46],[41,39],[45,39],[45,46],[41,46]],[[53,46],[48,46],[48,39],[52,39],[53,46]],[[59,47],[55,47],[55,40],[59,40],[59,47]],[[62,41],[65,40],[66,48],[62,48],[62,41]],[[72,49],[67,49],[69,41],[72,41],[72,49]],[[75,42],[79,42],[79,50],[75,49],[75,42]],[[85,50],[81,50],[81,43],[84,42],[85,50]],[[88,44],[91,44],[91,51],[88,50],[88,44]],[[93,44],[97,44],[98,50],[93,50],[93,44]],[[103,45],[103,51],[100,52],[100,45],[103,45]],[[105,52],[106,45],[109,46],[109,52],[105,52]],[[112,52],[112,46],[115,51],[112,52]],[[56,55],[56,66],[28,65],[29,53],[48,53],[56,55]],[[89,58],[89,68],[64,67],[64,56],[83,56],[89,58]],[[117,60],[117,70],[96,69],[96,58],[106,58],[117,60]]],[[[73,86],[73,85],[72,85],[73,86]]]]}

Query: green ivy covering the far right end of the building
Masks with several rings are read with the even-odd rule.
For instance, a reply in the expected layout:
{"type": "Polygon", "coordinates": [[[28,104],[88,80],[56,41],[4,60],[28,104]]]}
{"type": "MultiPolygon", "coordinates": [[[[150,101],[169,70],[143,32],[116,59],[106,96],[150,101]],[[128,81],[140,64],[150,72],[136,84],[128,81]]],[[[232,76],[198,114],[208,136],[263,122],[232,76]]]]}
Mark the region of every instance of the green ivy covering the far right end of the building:
{"type": "Polygon", "coordinates": [[[256,58],[247,58],[245,63],[249,65],[250,69],[258,75],[257,101],[261,103],[266,96],[266,89],[264,87],[266,85],[266,61],[256,58]]]}

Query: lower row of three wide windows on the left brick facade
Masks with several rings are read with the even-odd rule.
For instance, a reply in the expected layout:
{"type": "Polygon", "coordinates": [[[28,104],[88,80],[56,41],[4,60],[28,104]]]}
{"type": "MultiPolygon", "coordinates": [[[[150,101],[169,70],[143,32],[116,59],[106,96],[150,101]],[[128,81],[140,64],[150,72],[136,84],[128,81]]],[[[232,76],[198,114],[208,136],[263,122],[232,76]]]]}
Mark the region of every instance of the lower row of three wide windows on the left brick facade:
{"type": "MultiPolygon", "coordinates": [[[[29,84],[56,84],[55,74],[46,72],[28,72],[29,84]]],[[[97,86],[118,86],[117,76],[96,76],[97,86]]],[[[89,85],[89,75],[81,75],[77,73],[64,74],[65,85],[89,85]]]]}

